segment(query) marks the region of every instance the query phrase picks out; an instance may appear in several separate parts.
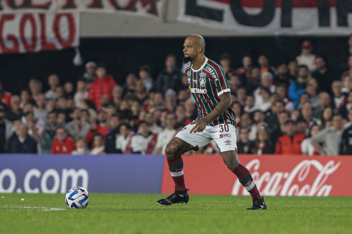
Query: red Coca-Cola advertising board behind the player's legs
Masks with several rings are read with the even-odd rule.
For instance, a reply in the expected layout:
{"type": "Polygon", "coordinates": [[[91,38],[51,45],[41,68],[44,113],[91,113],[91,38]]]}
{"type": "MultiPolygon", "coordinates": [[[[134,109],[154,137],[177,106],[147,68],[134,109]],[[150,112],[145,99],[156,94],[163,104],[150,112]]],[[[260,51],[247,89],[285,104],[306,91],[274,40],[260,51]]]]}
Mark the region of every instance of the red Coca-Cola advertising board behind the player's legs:
{"type": "MultiPolygon", "coordinates": [[[[240,155],[265,196],[352,196],[352,157],[240,155]]],[[[192,194],[249,195],[221,155],[183,156],[186,187],[192,194]]],[[[165,160],[161,193],[173,192],[165,160]]]]}

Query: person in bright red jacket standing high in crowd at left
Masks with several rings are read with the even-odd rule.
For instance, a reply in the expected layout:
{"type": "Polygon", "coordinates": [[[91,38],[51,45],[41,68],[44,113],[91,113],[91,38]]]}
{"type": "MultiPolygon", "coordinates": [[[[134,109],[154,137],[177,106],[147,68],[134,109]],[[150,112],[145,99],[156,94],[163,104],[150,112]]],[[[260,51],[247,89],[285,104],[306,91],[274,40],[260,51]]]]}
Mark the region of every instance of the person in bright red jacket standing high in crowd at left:
{"type": "Polygon", "coordinates": [[[112,101],[112,90],[116,86],[116,82],[112,75],[106,74],[105,65],[99,64],[97,66],[97,77],[91,84],[89,90],[89,99],[91,99],[97,106],[98,109],[101,108],[102,97],[108,97],[112,101]]]}

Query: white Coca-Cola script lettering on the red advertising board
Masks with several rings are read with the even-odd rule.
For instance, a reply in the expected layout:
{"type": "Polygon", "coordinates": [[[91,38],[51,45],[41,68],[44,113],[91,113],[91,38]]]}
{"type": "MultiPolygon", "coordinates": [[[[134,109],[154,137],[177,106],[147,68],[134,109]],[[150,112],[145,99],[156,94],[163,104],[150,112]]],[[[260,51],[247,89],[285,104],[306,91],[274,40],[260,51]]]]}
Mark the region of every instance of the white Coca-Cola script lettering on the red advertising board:
{"type": "MultiPolygon", "coordinates": [[[[331,175],[340,166],[341,161],[328,161],[325,165],[317,160],[303,160],[291,171],[265,171],[259,173],[260,161],[253,159],[246,167],[251,171],[260,193],[269,196],[329,196],[332,185],[326,184],[331,175]],[[315,178],[312,178],[315,177],[315,178]]],[[[248,195],[248,192],[236,180],[232,195],[248,195]]]]}

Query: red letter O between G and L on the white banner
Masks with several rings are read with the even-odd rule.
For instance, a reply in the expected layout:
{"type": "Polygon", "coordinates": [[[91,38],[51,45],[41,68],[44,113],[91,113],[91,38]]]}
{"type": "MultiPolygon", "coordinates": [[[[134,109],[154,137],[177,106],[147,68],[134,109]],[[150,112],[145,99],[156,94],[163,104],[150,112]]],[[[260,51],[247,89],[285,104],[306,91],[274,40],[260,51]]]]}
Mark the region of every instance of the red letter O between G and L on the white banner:
{"type": "Polygon", "coordinates": [[[35,46],[36,46],[36,42],[37,42],[37,34],[36,34],[36,25],[35,25],[35,20],[33,15],[31,14],[25,14],[23,15],[21,22],[20,22],[20,38],[22,40],[24,49],[27,52],[32,52],[35,50],[35,46]],[[24,30],[26,27],[26,22],[29,22],[29,25],[31,27],[31,32],[32,32],[32,36],[31,36],[31,42],[28,43],[27,38],[24,35],[24,30]]]}

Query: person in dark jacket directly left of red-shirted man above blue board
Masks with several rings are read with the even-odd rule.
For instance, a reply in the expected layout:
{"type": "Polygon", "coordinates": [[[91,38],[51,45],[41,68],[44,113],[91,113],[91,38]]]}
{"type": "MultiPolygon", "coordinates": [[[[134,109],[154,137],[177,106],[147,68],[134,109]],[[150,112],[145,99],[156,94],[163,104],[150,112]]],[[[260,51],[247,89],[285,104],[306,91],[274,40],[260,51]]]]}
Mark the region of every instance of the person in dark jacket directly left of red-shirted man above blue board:
{"type": "Polygon", "coordinates": [[[40,135],[40,147],[42,153],[49,154],[53,146],[53,141],[56,134],[57,128],[57,113],[50,111],[47,114],[47,121],[44,131],[40,135]]]}

